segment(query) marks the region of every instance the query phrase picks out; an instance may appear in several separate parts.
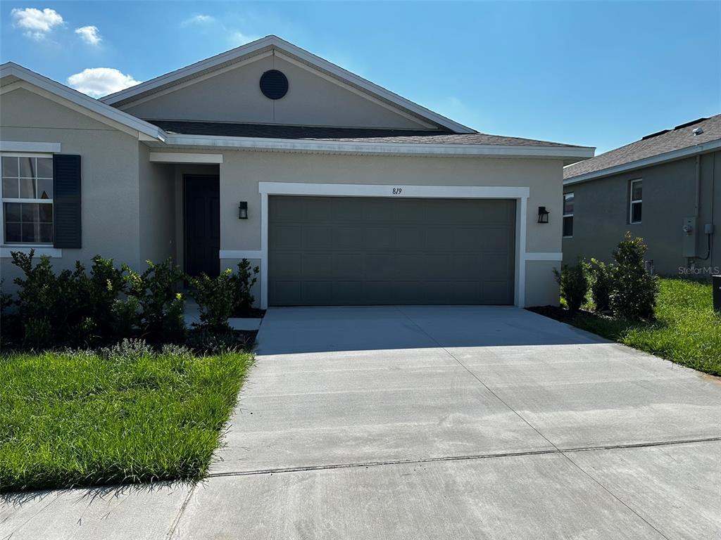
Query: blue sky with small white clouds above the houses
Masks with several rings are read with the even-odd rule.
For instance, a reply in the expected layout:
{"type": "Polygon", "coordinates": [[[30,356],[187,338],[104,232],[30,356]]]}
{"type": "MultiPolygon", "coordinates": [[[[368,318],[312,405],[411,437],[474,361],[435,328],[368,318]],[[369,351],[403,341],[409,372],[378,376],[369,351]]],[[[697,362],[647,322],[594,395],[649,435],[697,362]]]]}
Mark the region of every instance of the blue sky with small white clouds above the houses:
{"type": "Polygon", "coordinates": [[[461,124],[597,153],[721,113],[721,1],[0,1],[0,61],[99,96],[268,34],[461,124]]]}

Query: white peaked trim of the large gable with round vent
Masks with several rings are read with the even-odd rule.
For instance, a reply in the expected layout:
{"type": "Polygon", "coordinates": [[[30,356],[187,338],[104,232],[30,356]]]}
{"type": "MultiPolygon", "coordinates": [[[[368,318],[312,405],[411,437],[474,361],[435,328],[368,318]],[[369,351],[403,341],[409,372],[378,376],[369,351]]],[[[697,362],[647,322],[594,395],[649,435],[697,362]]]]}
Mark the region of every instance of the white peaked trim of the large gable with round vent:
{"type": "Polygon", "coordinates": [[[398,94],[394,94],[392,91],[384,89],[382,86],[373,84],[371,81],[351,73],[348,70],[336,66],[334,63],[330,63],[319,56],[309,53],[307,50],[301,49],[296,45],[293,45],[286,40],[280,39],[275,35],[268,35],[241,45],[225,53],[211,56],[205,60],[200,60],[180,68],[165,75],[152,78],[149,81],[145,81],[136,86],[131,86],[128,89],[115,92],[101,98],[101,101],[115,107],[122,107],[124,104],[131,103],[136,99],[141,99],[150,94],[154,94],[159,91],[164,91],[171,88],[172,86],[182,84],[185,81],[190,81],[193,78],[206,76],[208,73],[216,71],[221,68],[226,68],[234,63],[239,63],[251,59],[254,56],[262,55],[270,50],[275,50],[282,55],[286,55],[288,60],[299,62],[305,66],[313,68],[317,71],[324,73],[327,76],[335,78],[342,84],[348,84],[353,88],[360,90],[363,94],[371,96],[373,99],[379,99],[386,104],[391,104],[404,112],[410,113],[413,116],[431,122],[433,125],[444,127],[448,130],[458,133],[471,133],[470,127],[454,122],[449,118],[444,117],[437,112],[433,112],[430,109],[420,106],[417,103],[405,99],[398,94]]]}

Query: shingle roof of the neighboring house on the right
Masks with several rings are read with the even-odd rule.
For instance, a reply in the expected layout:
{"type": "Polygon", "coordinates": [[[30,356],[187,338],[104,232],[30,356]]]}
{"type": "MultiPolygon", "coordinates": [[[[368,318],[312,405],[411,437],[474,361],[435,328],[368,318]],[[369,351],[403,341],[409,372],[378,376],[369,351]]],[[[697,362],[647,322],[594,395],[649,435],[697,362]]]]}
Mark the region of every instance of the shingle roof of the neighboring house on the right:
{"type": "Polygon", "coordinates": [[[660,156],[673,150],[689,148],[700,143],[708,143],[721,139],[721,114],[696,122],[686,127],[677,127],[673,130],[660,132],[659,135],[648,136],[635,143],[616,148],[600,154],[595,158],[574,163],[563,169],[563,179],[572,179],[581,174],[595,173],[603,169],[625,165],[640,159],[660,156]],[[694,130],[700,127],[704,132],[694,135],[694,130]]]}

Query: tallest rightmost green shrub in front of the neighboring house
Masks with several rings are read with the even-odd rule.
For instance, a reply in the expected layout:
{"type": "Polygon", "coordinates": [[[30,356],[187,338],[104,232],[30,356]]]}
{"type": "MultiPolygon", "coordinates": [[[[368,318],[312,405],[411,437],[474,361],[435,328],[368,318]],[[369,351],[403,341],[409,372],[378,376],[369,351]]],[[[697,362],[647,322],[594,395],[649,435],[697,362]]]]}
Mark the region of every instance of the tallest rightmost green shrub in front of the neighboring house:
{"type": "Polygon", "coordinates": [[[646,270],[647,251],[642,238],[626,233],[614,251],[616,265],[612,271],[614,291],[611,310],[616,317],[631,320],[653,319],[658,294],[658,278],[646,270]]]}

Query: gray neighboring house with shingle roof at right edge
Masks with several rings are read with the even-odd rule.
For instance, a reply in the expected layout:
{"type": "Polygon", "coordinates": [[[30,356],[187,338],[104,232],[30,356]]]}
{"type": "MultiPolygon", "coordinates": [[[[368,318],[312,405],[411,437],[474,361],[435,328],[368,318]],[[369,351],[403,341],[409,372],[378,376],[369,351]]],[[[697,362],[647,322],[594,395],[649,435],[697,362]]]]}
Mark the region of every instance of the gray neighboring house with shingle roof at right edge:
{"type": "Polygon", "coordinates": [[[630,231],[658,274],[703,277],[721,266],[721,114],[567,166],[563,177],[565,263],[608,261],[630,231]]]}

